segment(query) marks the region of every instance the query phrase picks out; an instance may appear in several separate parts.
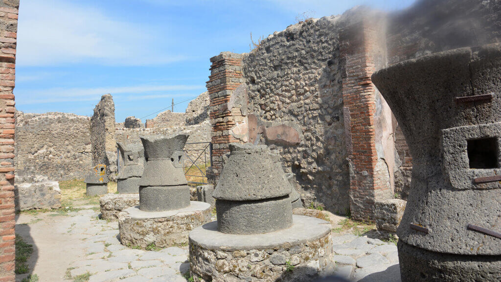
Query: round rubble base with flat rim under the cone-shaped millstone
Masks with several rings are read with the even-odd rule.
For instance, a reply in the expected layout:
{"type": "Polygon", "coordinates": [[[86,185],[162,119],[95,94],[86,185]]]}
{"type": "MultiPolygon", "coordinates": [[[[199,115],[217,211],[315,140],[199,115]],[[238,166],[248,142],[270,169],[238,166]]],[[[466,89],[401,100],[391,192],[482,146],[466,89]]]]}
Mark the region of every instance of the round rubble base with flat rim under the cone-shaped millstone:
{"type": "Polygon", "coordinates": [[[201,281],[314,281],[335,265],[331,225],[308,216],[253,235],[218,232],[213,221],[191,231],[189,244],[190,273],[201,281]]]}

